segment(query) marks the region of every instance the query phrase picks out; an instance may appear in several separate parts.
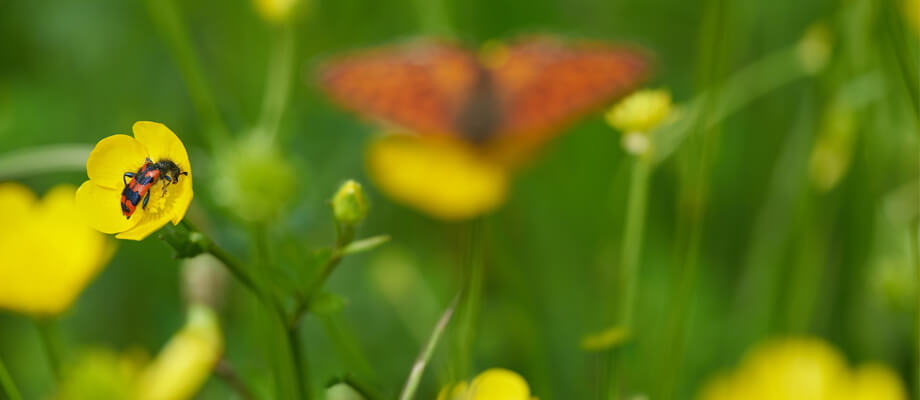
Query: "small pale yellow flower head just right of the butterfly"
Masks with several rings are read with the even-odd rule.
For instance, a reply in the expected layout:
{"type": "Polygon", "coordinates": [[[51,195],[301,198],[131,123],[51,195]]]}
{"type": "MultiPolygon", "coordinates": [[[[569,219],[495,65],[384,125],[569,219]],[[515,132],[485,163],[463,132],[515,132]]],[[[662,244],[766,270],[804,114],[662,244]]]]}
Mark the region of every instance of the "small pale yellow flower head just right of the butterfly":
{"type": "Polygon", "coordinates": [[[639,90],[620,100],[604,115],[610,126],[625,134],[647,133],[671,113],[671,93],[665,89],[639,90]]]}

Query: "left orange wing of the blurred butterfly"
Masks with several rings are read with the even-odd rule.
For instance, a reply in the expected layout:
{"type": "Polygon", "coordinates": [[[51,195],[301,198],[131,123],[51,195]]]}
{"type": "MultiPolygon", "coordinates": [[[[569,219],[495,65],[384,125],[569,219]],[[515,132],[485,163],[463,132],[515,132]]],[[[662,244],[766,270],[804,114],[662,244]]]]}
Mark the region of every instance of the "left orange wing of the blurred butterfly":
{"type": "Polygon", "coordinates": [[[414,41],[333,60],[320,68],[319,84],[366,117],[420,134],[457,134],[456,115],[480,70],[462,48],[414,41]]]}

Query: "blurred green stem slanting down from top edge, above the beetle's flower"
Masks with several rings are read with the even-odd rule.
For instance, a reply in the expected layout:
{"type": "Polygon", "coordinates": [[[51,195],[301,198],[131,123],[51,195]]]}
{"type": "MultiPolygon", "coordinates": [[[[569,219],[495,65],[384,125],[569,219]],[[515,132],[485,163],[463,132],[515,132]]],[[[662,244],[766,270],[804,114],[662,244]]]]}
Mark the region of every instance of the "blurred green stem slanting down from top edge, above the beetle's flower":
{"type": "Polygon", "coordinates": [[[181,11],[173,0],[147,0],[147,4],[154,24],[164,36],[173,58],[182,70],[195,110],[207,126],[205,132],[208,139],[212,146],[216,146],[229,136],[227,126],[202,72],[201,63],[182,21],[181,11]]]}

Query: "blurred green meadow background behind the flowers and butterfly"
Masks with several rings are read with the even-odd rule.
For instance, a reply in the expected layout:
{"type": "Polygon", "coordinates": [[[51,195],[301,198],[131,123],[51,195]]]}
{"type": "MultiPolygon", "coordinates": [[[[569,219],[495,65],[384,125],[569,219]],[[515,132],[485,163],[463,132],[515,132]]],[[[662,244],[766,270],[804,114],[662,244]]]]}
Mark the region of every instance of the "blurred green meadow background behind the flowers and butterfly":
{"type": "MultiPolygon", "coordinates": [[[[205,122],[152,17],[156,3],[0,3],[0,157],[61,143],[89,148],[127,133],[134,121],[163,122],[183,139],[196,168],[190,216],[208,221],[215,240],[245,257],[246,224],[218,206],[208,187],[221,170],[209,167],[214,154],[205,122]]],[[[176,3],[220,115],[239,137],[261,110],[274,28],[248,1],[176,3]]],[[[393,238],[336,270],[327,288],[347,305],[333,322],[306,318],[314,381],[354,372],[326,334],[345,329],[367,354],[367,380],[388,397],[398,392],[459,289],[468,229],[374,189],[363,164],[375,129],[318,92],[309,74],[319,60],[419,34],[454,36],[471,48],[534,32],[626,41],[654,54],[647,86],[669,89],[680,105],[794,46],[823,22],[833,48],[827,68],[770,91],[711,129],[693,130],[655,169],[640,334],[625,356],[625,379],[635,393],[663,384],[676,354],[670,333],[681,315],[687,324],[677,342],[685,349],[678,398],[692,398],[707,376],[735,365],[750,346],[785,334],[826,338],[852,363],[885,362],[914,387],[920,33],[905,13],[900,2],[882,0],[309,1],[295,20],[296,84],[280,136],[297,168],[296,197],[270,230],[305,248],[330,245],[335,231],[326,201],[354,178],[372,203],[359,236],[393,238]],[[828,111],[841,98],[850,102],[845,111],[828,111]],[[851,133],[842,142],[828,139],[828,146],[844,160],[843,171],[825,189],[816,183],[820,166],[810,160],[815,146],[827,145],[822,135],[838,129],[828,126],[841,119],[849,125],[839,129],[851,133]]],[[[578,343],[606,328],[615,289],[605,282],[619,260],[628,177],[619,134],[597,115],[516,175],[507,204],[482,222],[486,283],[474,371],[515,370],[543,400],[593,398],[598,356],[578,343]]],[[[61,182],[79,185],[85,171],[4,179],[43,193],[61,182]]],[[[61,319],[66,353],[84,346],[155,353],[184,319],[179,262],[171,254],[155,237],[119,241],[110,265],[61,319]]],[[[270,382],[254,328],[264,321],[259,313],[254,299],[231,284],[221,310],[226,354],[256,387],[270,382]]],[[[418,398],[433,398],[446,383],[447,347],[418,398]]],[[[26,398],[52,392],[28,319],[0,313],[0,354],[26,398]]],[[[228,396],[215,379],[200,394],[228,396]]]]}

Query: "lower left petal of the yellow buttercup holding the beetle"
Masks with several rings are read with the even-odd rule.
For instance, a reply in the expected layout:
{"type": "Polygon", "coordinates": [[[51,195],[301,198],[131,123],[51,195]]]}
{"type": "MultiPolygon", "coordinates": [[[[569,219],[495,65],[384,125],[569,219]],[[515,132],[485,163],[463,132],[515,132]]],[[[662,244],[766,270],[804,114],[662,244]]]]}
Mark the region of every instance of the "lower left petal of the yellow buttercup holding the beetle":
{"type": "Polygon", "coordinates": [[[124,232],[140,220],[140,208],[131,219],[121,213],[121,189],[110,189],[86,181],[77,189],[77,208],[86,223],[104,233],[124,232]]]}

